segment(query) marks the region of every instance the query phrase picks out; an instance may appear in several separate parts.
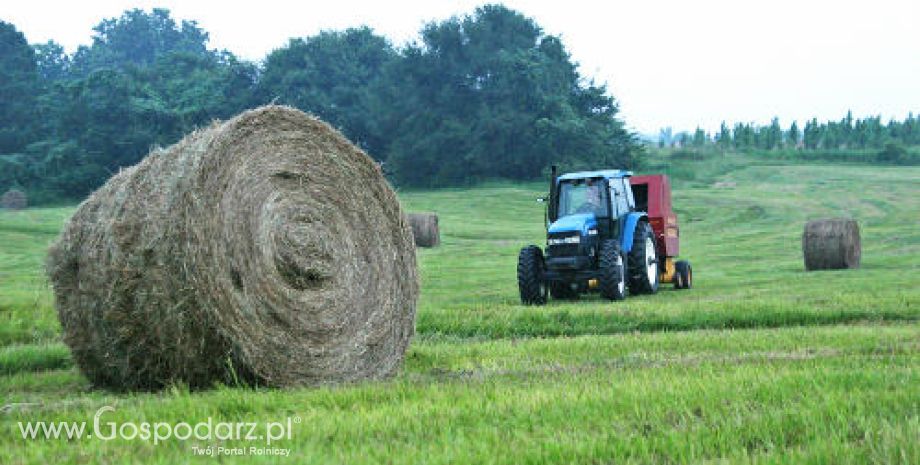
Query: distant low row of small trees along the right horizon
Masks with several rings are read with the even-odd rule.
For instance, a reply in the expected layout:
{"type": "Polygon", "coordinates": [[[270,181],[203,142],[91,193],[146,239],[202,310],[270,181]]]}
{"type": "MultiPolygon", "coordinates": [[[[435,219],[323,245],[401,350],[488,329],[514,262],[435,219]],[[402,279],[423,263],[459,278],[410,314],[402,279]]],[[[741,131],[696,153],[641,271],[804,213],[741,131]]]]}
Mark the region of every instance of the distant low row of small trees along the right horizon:
{"type": "Polygon", "coordinates": [[[673,134],[671,128],[659,133],[660,146],[679,145],[703,147],[714,145],[723,148],[778,150],[797,148],[801,150],[841,149],[883,149],[891,145],[920,145],[920,118],[911,112],[903,121],[882,122],[880,116],[854,119],[853,112],[847,112],[840,121],[818,122],[812,118],[800,128],[793,121],[788,129],[780,125],[779,118],[773,118],[769,125],[735,123],[729,127],[724,121],[719,131],[709,134],[701,128],[693,133],[673,134]]]}

